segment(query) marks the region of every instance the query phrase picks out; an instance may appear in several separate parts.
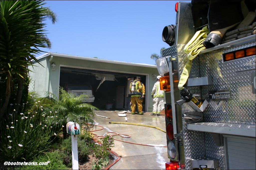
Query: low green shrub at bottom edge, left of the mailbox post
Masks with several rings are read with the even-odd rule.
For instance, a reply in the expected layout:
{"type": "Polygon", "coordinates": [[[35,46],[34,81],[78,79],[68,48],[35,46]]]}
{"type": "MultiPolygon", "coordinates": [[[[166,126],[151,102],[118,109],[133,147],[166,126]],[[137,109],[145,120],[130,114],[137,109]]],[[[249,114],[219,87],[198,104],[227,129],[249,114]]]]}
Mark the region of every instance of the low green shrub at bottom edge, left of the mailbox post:
{"type": "Polygon", "coordinates": [[[15,169],[70,169],[66,167],[60,157],[60,151],[56,150],[54,152],[46,152],[38,156],[37,159],[31,160],[31,162],[47,162],[50,161],[47,165],[25,165],[17,166],[15,169]]]}

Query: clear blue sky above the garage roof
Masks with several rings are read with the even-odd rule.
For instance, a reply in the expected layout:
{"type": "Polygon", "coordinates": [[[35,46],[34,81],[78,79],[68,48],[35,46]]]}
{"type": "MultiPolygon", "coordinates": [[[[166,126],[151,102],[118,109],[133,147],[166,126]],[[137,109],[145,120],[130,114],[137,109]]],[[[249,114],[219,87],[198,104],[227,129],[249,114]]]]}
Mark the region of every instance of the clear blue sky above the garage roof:
{"type": "Polygon", "coordinates": [[[58,22],[46,21],[52,48],[44,51],[155,64],[150,55],[169,47],[162,31],[175,24],[178,1],[45,2],[58,22]]]}

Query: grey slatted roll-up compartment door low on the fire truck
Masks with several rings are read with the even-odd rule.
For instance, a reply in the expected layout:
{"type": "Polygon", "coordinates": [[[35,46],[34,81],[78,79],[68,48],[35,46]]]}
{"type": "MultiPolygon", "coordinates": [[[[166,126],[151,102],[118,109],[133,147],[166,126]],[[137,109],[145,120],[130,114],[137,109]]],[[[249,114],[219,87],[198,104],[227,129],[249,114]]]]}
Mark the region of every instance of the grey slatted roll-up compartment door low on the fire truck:
{"type": "Polygon", "coordinates": [[[255,169],[255,138],[223,135],[226,169],[255,169]]]}

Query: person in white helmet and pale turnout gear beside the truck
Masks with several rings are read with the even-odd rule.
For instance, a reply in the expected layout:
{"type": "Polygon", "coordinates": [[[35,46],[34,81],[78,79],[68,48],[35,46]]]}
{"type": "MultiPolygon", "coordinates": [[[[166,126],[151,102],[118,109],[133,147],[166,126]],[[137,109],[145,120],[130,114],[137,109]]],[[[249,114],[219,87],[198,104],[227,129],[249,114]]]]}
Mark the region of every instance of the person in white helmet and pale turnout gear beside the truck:
{"type": "Polygon", "coordinates": [[[151,97],[153,98],[153,113],[150,115],[160,115],[161,111],[161,104],[164,101],[164,91],[160,90],[160,77],[156,77],[156,83],[154,84],[154,87],[152,89],[151,97]]]}

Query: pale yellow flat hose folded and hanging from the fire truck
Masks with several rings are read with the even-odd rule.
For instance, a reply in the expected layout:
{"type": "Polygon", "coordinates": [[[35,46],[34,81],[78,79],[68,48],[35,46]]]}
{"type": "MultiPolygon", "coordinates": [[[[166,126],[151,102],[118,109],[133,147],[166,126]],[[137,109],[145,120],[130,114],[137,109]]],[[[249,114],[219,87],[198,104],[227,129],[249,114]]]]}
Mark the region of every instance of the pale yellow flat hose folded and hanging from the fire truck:
{"type": "Polygon", "coordinates": [[[188,54],[188,61],[183,68],[182,74],[180,76],[178,88],[179,90],[183,89],[184,84],[187,82],[191,66],[192,60],[204,49],[206,49],[203,45],[203,42],[207,35],[209,34],[209,30],[207,26],[203,27],[202,30],[197,31],[196,34],[191,38],[188,44],[184,47],[184,52],[188,54]]]}

